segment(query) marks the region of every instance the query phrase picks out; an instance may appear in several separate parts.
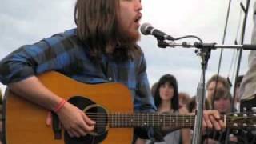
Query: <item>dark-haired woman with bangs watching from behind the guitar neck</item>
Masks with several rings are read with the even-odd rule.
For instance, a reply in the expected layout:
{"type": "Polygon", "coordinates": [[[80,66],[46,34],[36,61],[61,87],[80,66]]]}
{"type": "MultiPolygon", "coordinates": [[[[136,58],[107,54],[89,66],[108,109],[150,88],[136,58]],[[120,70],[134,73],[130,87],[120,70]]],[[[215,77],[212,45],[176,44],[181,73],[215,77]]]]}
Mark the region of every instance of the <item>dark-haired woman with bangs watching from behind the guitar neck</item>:
{"type": "MultiPolygon", "coordinates": [[[[165,74],[159,79],[154,92],[154,102],[159,113],[188,114],[186,108],[179,109],[178,83],[172,74],[165,74]]],[[[173,131],[167,134],[164,140],[165,142],[158,143],[190,143],[190,130],[182,129],[173,131]]],[[[150,143],[150,141],[147,143],[150,143]]]]}

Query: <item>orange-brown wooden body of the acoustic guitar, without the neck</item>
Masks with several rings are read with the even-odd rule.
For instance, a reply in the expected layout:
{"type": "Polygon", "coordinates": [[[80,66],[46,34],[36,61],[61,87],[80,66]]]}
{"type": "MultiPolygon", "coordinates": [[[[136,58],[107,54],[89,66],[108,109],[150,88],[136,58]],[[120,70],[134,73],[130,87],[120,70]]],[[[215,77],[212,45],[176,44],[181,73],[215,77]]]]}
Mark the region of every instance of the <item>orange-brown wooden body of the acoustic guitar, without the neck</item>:
{"type": "MultiPolygon", "coordinates": [[[[130,91],[121,84],[87,85],[57,72],[48,72],[39,75],[38,78],[48,89],[85,112],[133,111],[130,91]]],[[[46,126],[48,113],[46,109],[18,97],[8,89],[5,98],[3,132],[4,142],[7,144],[130,144],[132,142],[133,129],[109,128],[106,124],[107,119],[104,121],[106,129],[98,128],[95,131],[96,136],[87,134],[83,138],[70,138],[62,130],[61,138],[56,139],[52,127],[46,126]]]]}

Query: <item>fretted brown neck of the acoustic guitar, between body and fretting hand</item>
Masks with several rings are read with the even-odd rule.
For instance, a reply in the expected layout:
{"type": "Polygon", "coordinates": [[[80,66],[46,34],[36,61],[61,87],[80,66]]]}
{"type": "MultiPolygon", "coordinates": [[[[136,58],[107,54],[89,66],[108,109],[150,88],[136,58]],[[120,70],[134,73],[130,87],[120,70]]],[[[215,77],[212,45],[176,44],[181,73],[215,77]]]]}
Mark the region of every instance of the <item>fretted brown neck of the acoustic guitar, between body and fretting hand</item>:
{"type": "Polygon", "coordinates": [[[135,113],[108,115],[110,127],[171,127],[172,129],[194,126],[194,115],[135,113]]]}

